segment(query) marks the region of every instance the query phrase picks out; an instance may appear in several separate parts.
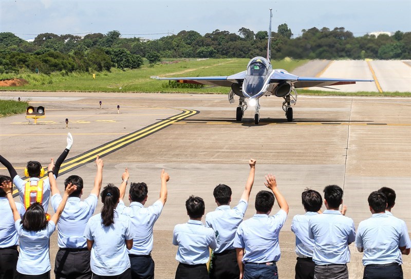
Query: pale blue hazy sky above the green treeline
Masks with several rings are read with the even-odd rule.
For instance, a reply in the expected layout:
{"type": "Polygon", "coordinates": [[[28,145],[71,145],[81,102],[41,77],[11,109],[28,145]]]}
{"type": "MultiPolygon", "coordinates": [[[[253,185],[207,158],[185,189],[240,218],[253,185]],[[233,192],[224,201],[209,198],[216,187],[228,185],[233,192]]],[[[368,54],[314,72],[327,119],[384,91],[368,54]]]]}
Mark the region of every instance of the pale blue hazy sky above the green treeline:
{"type": "Polygon", "coordinates": [[[106,34],[158,39],[181,30],[201,35],[216,29],[255,33],[286,23],[295,36],[312,27],[344,27],[354,36],[375,31],[411,31],[411,0],[258,1],[258,0],[0,0],[0,32],[34,39],[41,33],[106,34]]]}

